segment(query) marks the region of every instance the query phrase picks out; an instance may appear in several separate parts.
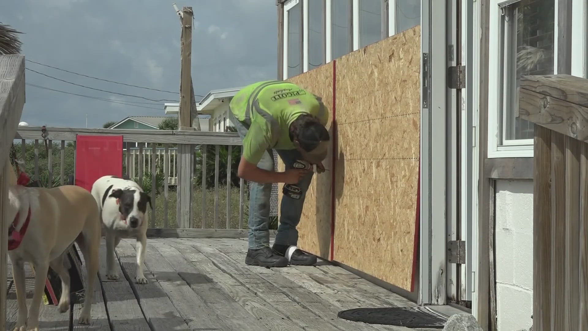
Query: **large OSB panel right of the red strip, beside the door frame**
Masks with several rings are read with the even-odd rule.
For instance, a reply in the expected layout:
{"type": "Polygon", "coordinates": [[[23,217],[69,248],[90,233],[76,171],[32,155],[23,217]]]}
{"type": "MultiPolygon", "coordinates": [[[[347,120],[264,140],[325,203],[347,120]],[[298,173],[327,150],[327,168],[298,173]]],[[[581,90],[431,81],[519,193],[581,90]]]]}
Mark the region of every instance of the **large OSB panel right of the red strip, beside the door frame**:
{"type": "Polygon", "coordinates": [[[337,61],[335,260],[410,290],[420,27],[337,61]]]}

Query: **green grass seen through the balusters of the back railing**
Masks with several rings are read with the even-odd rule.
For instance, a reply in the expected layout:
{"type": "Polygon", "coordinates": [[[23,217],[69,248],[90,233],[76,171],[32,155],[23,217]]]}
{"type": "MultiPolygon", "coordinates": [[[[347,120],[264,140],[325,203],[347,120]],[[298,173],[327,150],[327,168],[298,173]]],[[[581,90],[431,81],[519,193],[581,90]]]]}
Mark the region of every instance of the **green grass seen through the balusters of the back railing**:
{"type": "MultiPolygon", "coordinates": [[[[206,216],[205,224],[207,229],[226,229],[226,186],[219,186],[218,216],[215,226],[215,190],[214,188],[206,190],[206,216]]],[[[177,215],[177,194],[176,191],[168,193],[168,227],[175,229],[177,215]]],[[[158,194],[155,198],[155,227],[164,227],[163,203],[166,198],[164,194],[158,194]]],[[[243,226],[239,227],[239,187],[233,187],[230,190],[230,217],[228,229],[248,229],[247,219],[249,217],[249,194],[243,194],[243,226]]],[[[194,187],[192,196],[192,227],[200,229],[202,227],[202,188],[194,187]]]]}

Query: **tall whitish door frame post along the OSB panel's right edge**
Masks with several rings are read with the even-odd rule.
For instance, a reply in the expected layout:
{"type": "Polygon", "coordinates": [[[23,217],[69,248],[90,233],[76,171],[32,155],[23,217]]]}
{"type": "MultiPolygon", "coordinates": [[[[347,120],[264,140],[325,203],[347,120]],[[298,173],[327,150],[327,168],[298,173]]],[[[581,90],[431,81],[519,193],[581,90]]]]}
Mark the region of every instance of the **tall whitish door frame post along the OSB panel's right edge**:
{"type": "Polygon", "coordinates": [[[445,304],[446,290],[446,12],[421,2],[421,141],[419,304],[445,304]],[[433,137],[435,137],[433,139],[433,137]],[[435,167],[432,165],[435,164],[435,167]]]}

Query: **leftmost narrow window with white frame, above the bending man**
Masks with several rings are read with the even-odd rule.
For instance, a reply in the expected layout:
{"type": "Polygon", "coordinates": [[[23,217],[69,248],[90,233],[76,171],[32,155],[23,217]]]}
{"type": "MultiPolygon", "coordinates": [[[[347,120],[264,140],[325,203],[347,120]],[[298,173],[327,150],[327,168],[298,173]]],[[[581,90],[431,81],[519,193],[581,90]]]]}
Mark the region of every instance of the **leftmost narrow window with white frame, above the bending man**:
{"type": "Polygon", "coordinates": [[[284,77],[302,74],[302,4],[290,0],[284,6],[284,77]]]}

